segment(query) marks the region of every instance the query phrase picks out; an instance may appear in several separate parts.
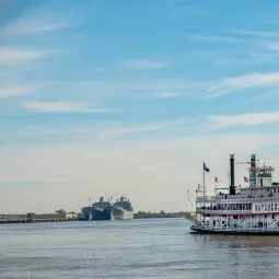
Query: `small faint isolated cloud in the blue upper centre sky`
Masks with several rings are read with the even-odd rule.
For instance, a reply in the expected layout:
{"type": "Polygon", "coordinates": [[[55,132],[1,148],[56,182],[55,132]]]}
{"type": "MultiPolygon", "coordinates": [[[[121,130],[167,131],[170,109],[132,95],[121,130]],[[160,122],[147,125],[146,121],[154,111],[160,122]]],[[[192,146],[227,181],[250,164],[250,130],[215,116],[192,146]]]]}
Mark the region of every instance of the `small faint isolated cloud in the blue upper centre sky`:
{"type": "Polygon", "coordinates": [[[153,70],[167,67],[170,63],[166,61],[154,60],[126,60],[119,63],[123,69],[130,70],[153,70]]]}

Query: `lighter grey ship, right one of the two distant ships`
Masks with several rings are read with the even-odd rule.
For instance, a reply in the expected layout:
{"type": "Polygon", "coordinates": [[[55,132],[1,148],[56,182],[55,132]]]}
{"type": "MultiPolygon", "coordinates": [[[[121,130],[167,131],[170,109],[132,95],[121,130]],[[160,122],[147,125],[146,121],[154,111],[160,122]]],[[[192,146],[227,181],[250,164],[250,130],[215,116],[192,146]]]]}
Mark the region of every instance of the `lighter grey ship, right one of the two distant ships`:
{"type": "Polygon", "coordinates": [[[119,200],[113,205],[112,219],[124,220],[124,219],[132,219],[133,218],[133,209],[129,199],[125,197],[120,197],[119,200]]]}

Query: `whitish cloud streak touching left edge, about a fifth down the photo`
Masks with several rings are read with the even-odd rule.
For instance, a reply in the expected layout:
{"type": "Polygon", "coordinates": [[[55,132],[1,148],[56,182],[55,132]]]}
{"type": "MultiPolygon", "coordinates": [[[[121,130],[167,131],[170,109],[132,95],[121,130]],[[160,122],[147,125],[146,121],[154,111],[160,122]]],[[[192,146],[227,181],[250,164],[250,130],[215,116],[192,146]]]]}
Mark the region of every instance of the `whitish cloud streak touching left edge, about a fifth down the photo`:
{"type": "Polygon", "coordinates": [[[55,50],[23,49],[20,47],[0,47],[0,65],[21,63],[33,59],[45,58],[55,50]]]}

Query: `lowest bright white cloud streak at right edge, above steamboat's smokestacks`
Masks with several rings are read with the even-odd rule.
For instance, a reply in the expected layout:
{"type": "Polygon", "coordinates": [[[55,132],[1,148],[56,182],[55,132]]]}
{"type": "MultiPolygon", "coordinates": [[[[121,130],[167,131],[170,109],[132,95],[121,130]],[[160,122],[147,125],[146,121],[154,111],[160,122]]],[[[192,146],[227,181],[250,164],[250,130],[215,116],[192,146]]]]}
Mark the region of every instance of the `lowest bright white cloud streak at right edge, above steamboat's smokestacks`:
{"type": "Polygon", "coordinates": [[[207,129],[221,129],[235,126],[255,126],[279,121],[279,112],[252,113],[240,115],[211,115],[207,117],[207,129]]]}

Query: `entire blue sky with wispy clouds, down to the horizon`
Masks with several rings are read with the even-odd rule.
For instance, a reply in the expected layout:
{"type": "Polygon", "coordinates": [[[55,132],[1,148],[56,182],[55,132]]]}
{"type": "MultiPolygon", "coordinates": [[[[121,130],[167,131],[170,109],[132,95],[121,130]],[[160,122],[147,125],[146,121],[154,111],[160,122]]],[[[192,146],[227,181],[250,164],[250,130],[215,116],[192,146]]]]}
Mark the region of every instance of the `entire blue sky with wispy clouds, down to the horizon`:
{"type": "Polygon", "coordinates": [[[214,176],[228,185],[230,153],[279,166],[278,12],[271,0],[0,0],[0,212],[121,195],[135,211],[185,210],[204,160],[208,193],[214,176]]]}

